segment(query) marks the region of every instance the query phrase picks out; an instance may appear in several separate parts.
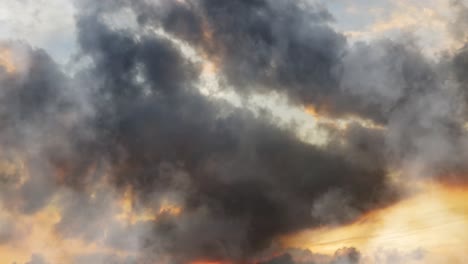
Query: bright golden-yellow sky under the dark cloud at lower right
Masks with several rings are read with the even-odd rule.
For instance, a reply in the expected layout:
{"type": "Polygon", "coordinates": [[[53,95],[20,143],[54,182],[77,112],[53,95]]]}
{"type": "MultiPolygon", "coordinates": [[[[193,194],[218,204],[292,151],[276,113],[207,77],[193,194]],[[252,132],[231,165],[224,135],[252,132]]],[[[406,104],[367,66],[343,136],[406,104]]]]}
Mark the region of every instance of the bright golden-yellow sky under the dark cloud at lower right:
{"type": "Polygon", "coordinates": [[[332,254],[356,247],[364,255],[379,250],[429,252],[425,263],[464,263],[468,252],[468,189],[424,183],[421,193],[371,212],[344,227],[323,227],[284,238],[288,247],[332,254]],[[447,261],[450,259],[450,261],[447,261]]]}

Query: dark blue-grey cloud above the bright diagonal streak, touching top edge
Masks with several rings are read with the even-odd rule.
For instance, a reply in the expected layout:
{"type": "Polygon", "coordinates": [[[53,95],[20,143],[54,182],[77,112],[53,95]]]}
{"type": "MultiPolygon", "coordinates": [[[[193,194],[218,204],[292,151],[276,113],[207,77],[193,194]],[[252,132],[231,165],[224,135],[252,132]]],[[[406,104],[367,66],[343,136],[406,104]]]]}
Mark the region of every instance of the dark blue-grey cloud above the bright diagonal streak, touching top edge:
{"type": "Polygon", "coordinates": [[[407,97],[434,89],[435,65],[416,45],[350,46],[318,5],[206,0],[166,3],[164,13],[139,1],[132,6],[143,25],[198,47],[244,96],[275,91],[325,115],[385,124],[407,97]]]}

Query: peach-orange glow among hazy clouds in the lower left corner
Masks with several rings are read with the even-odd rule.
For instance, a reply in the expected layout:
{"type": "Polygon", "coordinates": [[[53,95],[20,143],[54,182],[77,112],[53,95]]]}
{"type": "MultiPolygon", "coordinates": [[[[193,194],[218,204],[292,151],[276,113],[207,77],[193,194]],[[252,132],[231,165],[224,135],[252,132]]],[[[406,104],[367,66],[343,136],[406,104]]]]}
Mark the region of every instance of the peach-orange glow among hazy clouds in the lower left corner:
{"type": "MultiPolygon", "coordinates": [[[[100,190],[102,192],[103,190],[100,190]]],[[[0,215],[0,223],[13,223],[9,226],[2,226],[1,232],[11,232],[13,238],[8,244],[0,245],[1,263],[26,263],[32,255],[40,253],[42,257],[50,263],[76,263],[77,257],[92,256],[102,254],[112,256],[113,258],[128,258],[135,256],[135,250],[138,250],[138,244],[127,249],[121,249],[108,244],[108,239],[120,236],[120,228],[133,228],[138,225],[158,221],[162,215],[177,217],[182,209],[169,202],[164,202],[161,207],[155,211],[150,209],[137,209],[132,206],[135,203],[128,195],[108,204],[109,208],[115,207],[113,215],[107,215],[102,212],[102,217],[96,223],[96,219],[89,219],[88,223],[80,223],[84,226],[73,228],[84,228],[86,224],[102,227],[103,236],[97,235],[94,239],[88,240],[80,235],[76,237],[66,237],[58,232],[57,228],[61,224],[62,209],[56,204],[56,200],[61,199],[61,194],[57,194],[48,206],[34,214],[23,214],[21,212],[11,212],[11,209],[3,207],[0,215]],[[116,227],[120,227],[117,228],[116,227]],[[11,228],[11,230],[4,230],[11,228]]],[[[91,194],[92,195],[92,194],[91,194]]],[[[142,231],[143,232],[143,231],[142,231]]],[[[142,234],[130,233],[135,236],[122,237],[122,239],[135,239],[138,243],[142,234]]],[[[81,263],[81,262],[80,262],[81,263]]]]}

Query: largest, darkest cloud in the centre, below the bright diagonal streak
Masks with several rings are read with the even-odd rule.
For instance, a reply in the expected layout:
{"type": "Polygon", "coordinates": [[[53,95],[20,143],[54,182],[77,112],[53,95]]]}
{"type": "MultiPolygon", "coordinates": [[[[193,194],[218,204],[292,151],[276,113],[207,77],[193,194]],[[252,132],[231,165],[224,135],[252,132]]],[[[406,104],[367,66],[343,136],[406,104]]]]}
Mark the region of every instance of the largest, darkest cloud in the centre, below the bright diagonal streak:
{"type": "MultiPolygon", "coordinates": [[[[225,12],[245,4],[213,2],[210,8],[220,10],[206,11],[225,12]]],[[[251,4],[267,7],[262,1],[251,4]]],[[[312,18],[321,20],[318,16],[312,18]]],[[[226,21],[225,26],[235,22],[226,21]]],[[[262,23],[267,26],[267,21],[262,23]]],[[[252,21],[245,27],[249,24],[252,21]]],[[[100,13],[83,14],[78,25],[82,52],[93,64],[83,75],[98,84],[93,100],[100,147],[95,149],[99,154],[91,156],[104,156],[111,164],[111,181],[122,190],[130,186],[143,203],[175,194],[184,208],[180,216],[155,223],[154,236],[146,242],[148,252],[171,254],[180,262],[246,261],[276,237],[319,224],[312,207],[328,191],[345,193],[347,206],[356,212],[337,214],[337,223],[389,201],[385,195],[368,195],[368,190],[389,193],[384,167],[306,144],[267,116],[201,95],[195,88],[198,65],[188,62],[170,41],[112,30],[100,13]]],[[[320,57],[321,48],[313,47],[310,56],[320,57]]],[[[280,66],[280,71],[287,67],[280,66]]],[[[289,74],[284,73],[285,82],[289,74]]],[[[73,218],[65,216],[62,224],[66,227],[73,218]]]]}

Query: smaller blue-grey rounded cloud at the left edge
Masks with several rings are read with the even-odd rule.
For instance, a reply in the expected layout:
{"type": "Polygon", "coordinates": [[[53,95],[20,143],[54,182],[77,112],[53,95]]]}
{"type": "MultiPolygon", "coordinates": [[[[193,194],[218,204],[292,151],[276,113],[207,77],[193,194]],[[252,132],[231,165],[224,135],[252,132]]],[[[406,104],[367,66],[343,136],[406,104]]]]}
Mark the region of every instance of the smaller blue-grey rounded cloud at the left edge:
{"type": "MultiPolygon", "coordinates": [[[[43,50],[24,43],[2,45],[18,62],[16,72],[0,73],[0,143],[2,160],[20,157],[27,167],[12,178],[27,178],[9,207],[34,213],[54,193],[54,168],[47,157],[52,149],[67,148],[66,133],[73,128],[78,109],[71,83],[60,67],[43,50]],[[38,158],[39,157],[39,158],[38,158]],[[28,177],[30,176],[30,177],[28,177]]],[[[12,164],[19,167],[20,164],[12,164]]],[[[13,188],[13,186],[11,186],[13,188]]],[[[10,190],[12,188],[9,188],[10,190]]]]}

